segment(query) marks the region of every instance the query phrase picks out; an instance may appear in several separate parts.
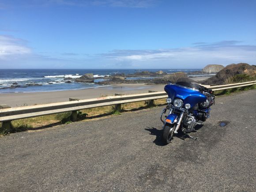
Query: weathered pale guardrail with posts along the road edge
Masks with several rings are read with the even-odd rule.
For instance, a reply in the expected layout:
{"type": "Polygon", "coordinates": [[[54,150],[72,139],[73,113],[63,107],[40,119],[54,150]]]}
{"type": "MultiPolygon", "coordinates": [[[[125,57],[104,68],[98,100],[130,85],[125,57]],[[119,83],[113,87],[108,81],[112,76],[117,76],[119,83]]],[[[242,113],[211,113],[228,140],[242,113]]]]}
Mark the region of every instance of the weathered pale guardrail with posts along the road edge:
{"type": "MultiPolygon", "coordinates": [[[[212,90],[225,90],[236,87],[244,87],[256,84],[256,81],[244,82],[244,83],[234,83],[229,85],[219,85],[219,86],[205,86],[212,90]]],[[[69,102],[58,102],[43,105],[32,105],[23,107],[10,107],[8,105],[0,105],[0,122],[2,127],[6,130],[11,130],[11,120],[18,120],[28,117],[37,117],[43,115],[49,115],[54,113],[64,113],[72,112],[72,120],[77,120],[77,111],[81,109],[89,109],[94,107],[102,107],[108,105],[116,105],[116,109],[120,109],[120,105],[124,103],[147,101],[149,103],[154,103],[154,99],[166,98],[167,94],[165,91],[154,92],[149,91],[149,93],[143,94],[131,94],[131,95],[117,95],[109,96],[103,98],[93,98],[93,99],[71,99],[69,102]]]]}

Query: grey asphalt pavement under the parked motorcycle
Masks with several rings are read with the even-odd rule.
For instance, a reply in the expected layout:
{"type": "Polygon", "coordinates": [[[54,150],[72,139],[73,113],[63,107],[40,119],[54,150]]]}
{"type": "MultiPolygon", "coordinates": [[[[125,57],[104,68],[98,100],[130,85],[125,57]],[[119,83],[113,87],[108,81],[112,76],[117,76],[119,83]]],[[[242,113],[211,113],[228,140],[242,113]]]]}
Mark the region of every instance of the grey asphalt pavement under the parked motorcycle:
{"type": "Polygon", "coordinates": [[[167,146],[162,108],[0,138],[0,191],[256,191],[256,90],[167,146]]]}

